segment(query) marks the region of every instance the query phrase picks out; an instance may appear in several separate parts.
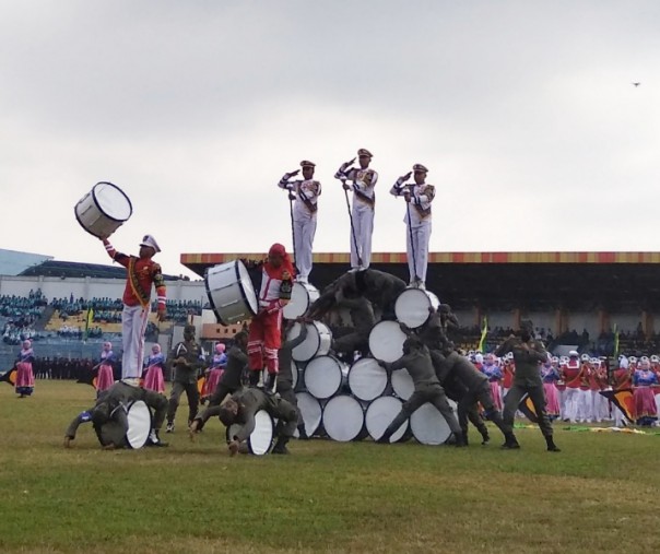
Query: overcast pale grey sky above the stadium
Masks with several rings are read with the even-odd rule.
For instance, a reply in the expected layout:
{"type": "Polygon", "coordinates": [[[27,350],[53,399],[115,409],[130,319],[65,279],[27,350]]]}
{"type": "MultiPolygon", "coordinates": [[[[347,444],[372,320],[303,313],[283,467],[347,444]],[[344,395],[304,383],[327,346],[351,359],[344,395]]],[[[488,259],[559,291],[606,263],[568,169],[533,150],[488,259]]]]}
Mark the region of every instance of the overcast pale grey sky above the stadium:
{"type": "Polygon", "coordinates": [[[433,251],[657,251],[658,30],[657,0],[0,0],[0,247],[107,263],[73,213],[102,180],[166,273],[291,247],[276,182],[311,160],[315,250],[347,251],[332,176],[367,148],[374,251],[405,250],[414,163],[433,251]]]}

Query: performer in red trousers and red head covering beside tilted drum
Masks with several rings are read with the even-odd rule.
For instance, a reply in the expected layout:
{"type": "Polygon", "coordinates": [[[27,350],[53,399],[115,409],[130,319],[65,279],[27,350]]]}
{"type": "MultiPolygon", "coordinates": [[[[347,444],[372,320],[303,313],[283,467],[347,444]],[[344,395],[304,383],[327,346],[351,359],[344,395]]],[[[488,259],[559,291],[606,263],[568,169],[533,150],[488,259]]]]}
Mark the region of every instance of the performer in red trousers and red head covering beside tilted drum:
{"type": "Polygon", "coordinates": [[[268,390],[275,389],[278,377],[278,350],[281,344],[282,309],[291,299],[293,263],[286,249],[274,244],[262,262],[259,313],[252,318],[248,337],[250,385],[257,386],[261,372],[268,369],[268,390]]]}

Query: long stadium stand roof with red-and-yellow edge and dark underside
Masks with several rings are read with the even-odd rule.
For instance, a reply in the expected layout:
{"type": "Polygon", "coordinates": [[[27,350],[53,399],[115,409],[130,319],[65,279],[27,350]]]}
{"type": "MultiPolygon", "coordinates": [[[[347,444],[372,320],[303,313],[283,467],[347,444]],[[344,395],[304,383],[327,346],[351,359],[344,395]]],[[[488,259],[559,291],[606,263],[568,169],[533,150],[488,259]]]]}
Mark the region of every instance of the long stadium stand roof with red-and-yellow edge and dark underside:
{"type": "MultiPolygon", "coordinates": [[[[182,254],[203,275],[207,268],[264,252],[182,254]]],[[[350,266],[347,252],[314,255],[310,282],[322,288],[350,266]]],[[[403,252],[372,255],[372,268],[408,282],[403,252]]],[[[660,252],[431,252],[427,288],[457,309],[660,310],[660,252]]]]}

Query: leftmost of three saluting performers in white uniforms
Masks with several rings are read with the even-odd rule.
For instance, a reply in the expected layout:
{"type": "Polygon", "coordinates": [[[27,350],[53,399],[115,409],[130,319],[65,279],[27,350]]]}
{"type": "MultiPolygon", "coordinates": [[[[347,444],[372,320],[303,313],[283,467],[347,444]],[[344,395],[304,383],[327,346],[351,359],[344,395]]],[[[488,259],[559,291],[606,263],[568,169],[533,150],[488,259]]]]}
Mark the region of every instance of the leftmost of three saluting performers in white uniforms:
{"type": "Polygon", "coordinates": [[[298,268],[298,281],[307,283],[311,272],[311,250],[316,234],[316,212],[318,197],[321,195],[321,184],[314,180],[316,164],[304,160],[300,162],[303,179],[292,180],[300,172],[296,169],[285,173],[280,179],[280,188],[295,196],[293,207],[293,245],[295,263],[298,268]]]}

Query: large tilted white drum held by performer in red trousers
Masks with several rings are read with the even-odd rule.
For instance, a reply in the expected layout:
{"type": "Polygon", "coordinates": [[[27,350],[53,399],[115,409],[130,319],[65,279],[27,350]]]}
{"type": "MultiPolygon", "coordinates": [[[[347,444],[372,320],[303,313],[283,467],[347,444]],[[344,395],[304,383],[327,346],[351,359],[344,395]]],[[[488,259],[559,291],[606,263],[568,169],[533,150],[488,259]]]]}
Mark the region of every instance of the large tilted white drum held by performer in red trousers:
{"type": "Polygon", "coordinates": [[[222,325],[251,319],[259,310],[255,287],[240,260],[209,268],[204,284],[209,303],[222,325]]]}

